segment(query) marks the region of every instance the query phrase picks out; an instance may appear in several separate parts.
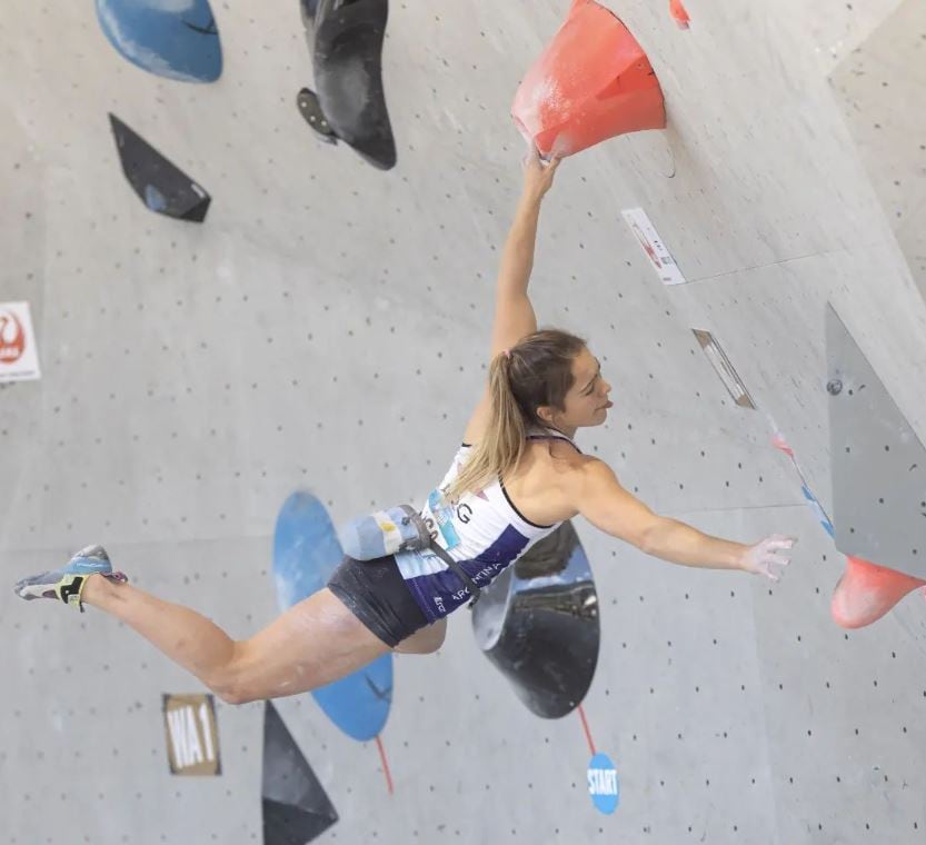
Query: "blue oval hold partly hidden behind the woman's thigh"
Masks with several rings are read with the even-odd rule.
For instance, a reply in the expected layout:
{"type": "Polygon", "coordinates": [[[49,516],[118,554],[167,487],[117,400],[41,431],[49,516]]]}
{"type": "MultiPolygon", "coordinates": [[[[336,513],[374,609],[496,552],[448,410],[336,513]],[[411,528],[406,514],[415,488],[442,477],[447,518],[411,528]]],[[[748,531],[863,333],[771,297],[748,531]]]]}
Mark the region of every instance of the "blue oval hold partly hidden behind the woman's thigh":
{"type": "MultiPolygon", "coordinates": [[[[273,531],[273,581],[277,604],[287,610],[328,583],[343,553],[331,518],[310,493],[293,493],[277,516],[273,531]]],[[[311,643],[306,644],[311,648],[311,643]]],[[[348,736],[360,742],[378,736],[392,704],[392,655],[312,690],[319,707],[348,736]]]]}

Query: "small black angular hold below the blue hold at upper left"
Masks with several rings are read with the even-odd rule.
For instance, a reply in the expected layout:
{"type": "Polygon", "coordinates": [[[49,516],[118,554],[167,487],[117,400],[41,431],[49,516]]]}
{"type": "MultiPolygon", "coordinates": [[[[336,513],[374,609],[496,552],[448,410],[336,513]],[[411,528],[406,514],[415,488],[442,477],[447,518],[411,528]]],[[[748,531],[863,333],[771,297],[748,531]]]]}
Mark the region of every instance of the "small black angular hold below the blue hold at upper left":
{"type": "Polygon", "coordinates": [[[211,197],[114,115],[109,116],[126,178],[151,211],[201,223],[211,197]]]}

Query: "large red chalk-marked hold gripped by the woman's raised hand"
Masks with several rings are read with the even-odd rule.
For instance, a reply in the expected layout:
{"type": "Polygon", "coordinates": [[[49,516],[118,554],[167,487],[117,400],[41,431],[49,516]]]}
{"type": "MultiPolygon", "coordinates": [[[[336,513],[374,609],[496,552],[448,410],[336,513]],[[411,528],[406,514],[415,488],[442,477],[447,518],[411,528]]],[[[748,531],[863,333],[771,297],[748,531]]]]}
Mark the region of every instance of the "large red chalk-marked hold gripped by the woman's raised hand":
{"type": "Polygon", "coordinates": [[[630,30],[594,0],[574,0],[521,81],[511,115],[544,157],[571,156],[617,135],[666,126],[649,59],[630,30]]]}

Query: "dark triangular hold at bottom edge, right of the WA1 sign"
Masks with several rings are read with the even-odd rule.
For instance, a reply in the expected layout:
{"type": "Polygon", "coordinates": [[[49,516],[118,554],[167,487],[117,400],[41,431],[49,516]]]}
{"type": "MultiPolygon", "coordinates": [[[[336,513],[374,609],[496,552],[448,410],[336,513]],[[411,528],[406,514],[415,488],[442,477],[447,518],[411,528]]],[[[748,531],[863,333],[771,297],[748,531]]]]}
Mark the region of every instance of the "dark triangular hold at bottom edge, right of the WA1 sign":
{"type": "Polygon", "coordinates": [[[263,710],[265,845],[305,845],[338,821],[328,798],[277,708],[263,710]]]}

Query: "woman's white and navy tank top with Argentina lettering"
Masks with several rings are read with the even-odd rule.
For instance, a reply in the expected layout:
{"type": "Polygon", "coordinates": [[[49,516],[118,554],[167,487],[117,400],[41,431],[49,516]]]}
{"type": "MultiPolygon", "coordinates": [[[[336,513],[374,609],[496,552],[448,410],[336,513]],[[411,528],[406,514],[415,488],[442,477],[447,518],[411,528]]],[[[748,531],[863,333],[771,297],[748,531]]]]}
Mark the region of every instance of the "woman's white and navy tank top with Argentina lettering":
{"type": "MultiPolygon", "coordinates": [[[[578,451],[568,437],[554,429],[530,429],[528,439],[565,440],[578,451]]],[[[441,490],[457,477],[471,448],[469,444],[460,446],[440,487],[428,497],[421,516],[431,529],[434,540],[460,564],[476,586],[485,588],[561,523],[537,525],[526,519],[508,498],[500,479],[479,493],[464,494],[456,506],[448,503],[441,490]]],[[[469,600],[469,590],[460,577],[434,551],[400,551],[396,561],[429,623],[469,600]]]]}

